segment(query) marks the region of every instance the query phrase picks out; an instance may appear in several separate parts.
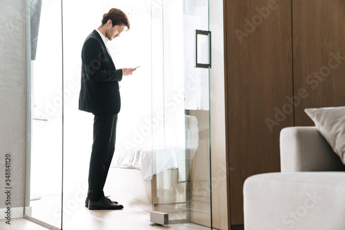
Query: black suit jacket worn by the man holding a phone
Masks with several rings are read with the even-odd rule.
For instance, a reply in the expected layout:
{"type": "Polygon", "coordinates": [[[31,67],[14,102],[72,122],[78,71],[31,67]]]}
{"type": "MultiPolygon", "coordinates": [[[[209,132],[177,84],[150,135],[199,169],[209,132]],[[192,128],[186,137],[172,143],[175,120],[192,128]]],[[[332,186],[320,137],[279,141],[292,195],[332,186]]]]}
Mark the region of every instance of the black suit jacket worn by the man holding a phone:
{"type": "Polygon", "coordinates": [[[81,61],[79,109],[92,114],[118,114],[122,70],[116,69],[96,30],[83,43],[81,61]]]}

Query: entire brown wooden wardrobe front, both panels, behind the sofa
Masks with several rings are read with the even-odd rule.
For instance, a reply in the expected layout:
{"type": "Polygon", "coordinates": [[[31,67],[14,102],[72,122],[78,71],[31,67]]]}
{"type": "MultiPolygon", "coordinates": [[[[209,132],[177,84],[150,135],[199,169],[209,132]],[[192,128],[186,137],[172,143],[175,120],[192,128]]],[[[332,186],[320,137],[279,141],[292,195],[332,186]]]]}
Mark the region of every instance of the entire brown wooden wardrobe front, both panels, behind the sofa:
{"type": "Polygon", "coordinates": [[[280,171],[279,133],[345,106],[344,0],[224,0],[229,226],[244,180],[280,171]]]}

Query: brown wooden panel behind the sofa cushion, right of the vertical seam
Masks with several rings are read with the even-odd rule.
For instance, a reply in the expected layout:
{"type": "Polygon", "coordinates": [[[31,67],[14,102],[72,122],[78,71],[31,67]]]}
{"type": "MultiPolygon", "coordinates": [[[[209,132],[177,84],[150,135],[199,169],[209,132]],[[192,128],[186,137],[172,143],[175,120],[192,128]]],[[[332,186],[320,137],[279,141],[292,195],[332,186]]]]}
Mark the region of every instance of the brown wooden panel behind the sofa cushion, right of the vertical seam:
{"type": "Polygon", "coordinates": [[[308,107],[345,105],[345,1],[293,1],[295,125],[314,125],[308,107]]]}

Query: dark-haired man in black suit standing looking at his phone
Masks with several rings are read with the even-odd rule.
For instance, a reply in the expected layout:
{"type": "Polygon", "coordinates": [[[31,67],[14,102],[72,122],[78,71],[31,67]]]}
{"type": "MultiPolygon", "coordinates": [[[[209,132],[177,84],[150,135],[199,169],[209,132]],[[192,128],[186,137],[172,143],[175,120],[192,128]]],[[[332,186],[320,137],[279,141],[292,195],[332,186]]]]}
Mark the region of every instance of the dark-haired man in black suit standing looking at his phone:
{"type": "Polygon", "coordinates": [[[115,151],[117,114],[121,106],[119,81],[122,76],[135,71],[132,68],[116,69],[107,41],[120,36],[126,28],[130,28],[126,14],[119,9],[110,9],[103,15],[99,28],[88,35],[81,51],[79,109],[95,115],[85,202],[89,209],[124,208],[104,196],[103,187],[115,151]]]}

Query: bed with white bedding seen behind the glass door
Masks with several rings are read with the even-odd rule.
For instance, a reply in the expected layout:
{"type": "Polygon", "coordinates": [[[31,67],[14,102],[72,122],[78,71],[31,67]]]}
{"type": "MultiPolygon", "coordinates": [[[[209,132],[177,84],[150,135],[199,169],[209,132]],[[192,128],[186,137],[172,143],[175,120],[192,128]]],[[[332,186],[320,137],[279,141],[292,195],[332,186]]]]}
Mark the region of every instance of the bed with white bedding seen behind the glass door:
{"type": "Polygon", "coordinates": [[[186,131],[184,146],[115,150],[106,193],[128,207],[144,211],[152,211],[153,205],[157,210],[159,204],[185,203],[186,151],[197,149],[199,138],[196,118],[188,116],[188,123],[192,125],[186,131]]]}

